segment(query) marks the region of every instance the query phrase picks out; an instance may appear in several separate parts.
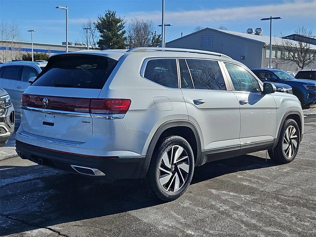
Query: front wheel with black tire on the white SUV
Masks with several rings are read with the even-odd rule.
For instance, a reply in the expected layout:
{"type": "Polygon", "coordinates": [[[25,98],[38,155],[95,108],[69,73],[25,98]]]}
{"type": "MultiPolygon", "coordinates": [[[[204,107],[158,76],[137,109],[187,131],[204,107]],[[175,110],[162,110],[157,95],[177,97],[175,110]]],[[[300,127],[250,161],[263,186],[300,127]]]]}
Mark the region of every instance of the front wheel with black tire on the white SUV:
{"type": "MultiPolygon", "coordinates": [[[[293,137],[295,137],[295,136],[293,136],[293,137]]],[[[287,164],[287,163],[293,161],[297,155],[297,152],[298,152],[298,149],[300,146],[300,138],[301,138],[300,137],[300,129],[299,129],[297,123],[295,122],[295,120],[286,119],[283,123],[280,137],[279,137],[279,140],[278,140],[276,147],[272,150],[268,150],[268,154],[269,154],[271,160],[276,161],[280,164],[287,164]],[[284,150],[284,147],[286,147],[286,145],[287,145],[287,142],[285,141],[286,137],[284,137],[284,136],[285,136],[285,133],[287,132],[287,130],[289,129],[289,127],[295,128],[295,130],[296,130],[295,136],[297,136],[297,137],[293,138],[292,140],[289,139],[289,140],[291,140],[291,142],[288,142],[289,145],[284,150]],[[293,140],[297,141],[296,149],[294,152],[293,152],[293,147],[295,147],[295,143],[293,140]],[[284,147],[283,147],[283,143],[284,143],[284,147]],[[290,146],[291,146],[291,148],[289,148],[290,146]],[[291,149],[292,152],[289,149],[291,149]]]]}

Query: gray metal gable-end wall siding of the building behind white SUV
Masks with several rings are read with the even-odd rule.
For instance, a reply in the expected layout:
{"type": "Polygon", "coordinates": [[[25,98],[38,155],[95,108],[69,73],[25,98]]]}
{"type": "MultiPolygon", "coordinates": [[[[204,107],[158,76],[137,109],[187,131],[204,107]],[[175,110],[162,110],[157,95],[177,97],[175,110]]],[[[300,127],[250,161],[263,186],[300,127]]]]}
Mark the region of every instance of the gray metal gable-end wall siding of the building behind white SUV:
{"type": "Polygon", "coordinates": [[[262,66],[263,46],[264,43],[247,40],[212,29],[204,29],[166,43],[166,47],[223,53],[240,61],[249,68],[260,68],[262,66]],[[212,47],[201,47],[201,36],[213,36],[212,47]],[[240,59],[240,56],[244,56],[245,59],[240,59]]]}

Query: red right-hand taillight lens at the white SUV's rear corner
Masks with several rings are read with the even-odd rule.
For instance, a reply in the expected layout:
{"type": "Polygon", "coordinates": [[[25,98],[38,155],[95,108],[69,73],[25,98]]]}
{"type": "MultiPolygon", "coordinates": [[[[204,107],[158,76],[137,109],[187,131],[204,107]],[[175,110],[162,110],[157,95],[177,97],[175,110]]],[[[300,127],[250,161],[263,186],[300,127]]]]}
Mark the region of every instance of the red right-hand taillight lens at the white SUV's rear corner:
{"type": "Polygon", "coordinates": [[[130,99],[91,99],[90,113],[125,114],[130,105],[130,99]]]}

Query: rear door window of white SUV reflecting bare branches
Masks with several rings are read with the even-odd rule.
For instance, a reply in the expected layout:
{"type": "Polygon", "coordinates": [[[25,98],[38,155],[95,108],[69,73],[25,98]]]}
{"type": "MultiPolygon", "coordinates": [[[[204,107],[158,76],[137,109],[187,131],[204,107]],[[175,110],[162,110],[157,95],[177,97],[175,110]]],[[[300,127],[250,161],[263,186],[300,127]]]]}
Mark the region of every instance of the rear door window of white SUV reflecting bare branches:
{"type": "Polygon", "coordinates": [[[218,62],[199,59],[186,59],[186,61],[195,89],[226,90],[218,62]]]}

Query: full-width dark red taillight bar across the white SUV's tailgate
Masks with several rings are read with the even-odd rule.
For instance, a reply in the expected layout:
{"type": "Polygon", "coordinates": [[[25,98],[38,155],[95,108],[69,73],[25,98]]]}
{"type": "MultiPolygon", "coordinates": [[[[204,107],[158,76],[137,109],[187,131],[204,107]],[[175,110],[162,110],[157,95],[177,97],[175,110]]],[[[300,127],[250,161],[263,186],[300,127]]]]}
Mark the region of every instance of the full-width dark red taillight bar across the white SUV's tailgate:
{"type": "Polygon", "coordinates": [[[131,105],[130,99],[88,99],[29,94],[22,94],[21,101],[22,106],[98,114],[125,114],[131,105]],[[48,99],[47,104],[43,103],[44,98],[48,99]]]}

